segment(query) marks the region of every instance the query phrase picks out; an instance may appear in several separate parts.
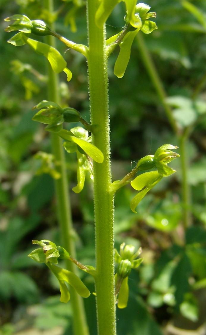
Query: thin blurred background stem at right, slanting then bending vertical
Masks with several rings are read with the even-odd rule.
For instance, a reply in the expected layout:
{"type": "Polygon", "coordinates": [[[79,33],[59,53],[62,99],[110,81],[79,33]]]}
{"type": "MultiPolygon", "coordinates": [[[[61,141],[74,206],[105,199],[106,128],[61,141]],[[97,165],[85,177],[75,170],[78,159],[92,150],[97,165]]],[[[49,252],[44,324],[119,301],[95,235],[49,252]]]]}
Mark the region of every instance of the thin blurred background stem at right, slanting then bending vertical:
{"type": "Polygon", "coordinates": [[[142,56],[142,61],[154,84],[154,87],[162,103],[162,106],[164,107],[164,110],[168,118],[168,121],[170,123],[170,126],[173,129],[179,141],[180,152],[181,152],[181,172],[182,172],[183,224],[186,229],[191,224],[191,211],[190,211],[191,192],[190,192],[190,186],[188,183],[188,174],[187,174],[188,161],[186,157],[186,141],[189,137],[189,131],[185,129],[185,132],[181,133],[180,129],[178,128],[178,125],[173,117],[172,110],[170,106],[166,103],[166,92],[164,90],[162,81],[158,75],[158,72],[155,68],[155,65],[152,61],[152,58],[147,50],[143,37],[141,36],[140,33],[137,34],[137,41],[138,41],[139,51],[142,56]]]}

